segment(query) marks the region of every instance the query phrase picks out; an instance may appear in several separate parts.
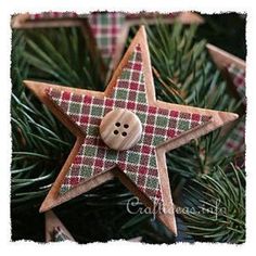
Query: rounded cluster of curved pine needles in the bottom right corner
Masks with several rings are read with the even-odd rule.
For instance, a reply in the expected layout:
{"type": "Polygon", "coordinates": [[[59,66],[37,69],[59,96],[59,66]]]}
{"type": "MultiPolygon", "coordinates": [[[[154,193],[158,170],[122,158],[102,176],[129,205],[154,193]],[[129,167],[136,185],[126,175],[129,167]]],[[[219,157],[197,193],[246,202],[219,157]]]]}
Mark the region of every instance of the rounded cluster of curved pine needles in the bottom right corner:
{"type": "Polygon", "coordinates": [[[203,241],[244,243],[244,171],[233,165],[226,172],[216,167],[189,184],[187,205],[195,209],[183,214],[189,233],[203,241]]]}

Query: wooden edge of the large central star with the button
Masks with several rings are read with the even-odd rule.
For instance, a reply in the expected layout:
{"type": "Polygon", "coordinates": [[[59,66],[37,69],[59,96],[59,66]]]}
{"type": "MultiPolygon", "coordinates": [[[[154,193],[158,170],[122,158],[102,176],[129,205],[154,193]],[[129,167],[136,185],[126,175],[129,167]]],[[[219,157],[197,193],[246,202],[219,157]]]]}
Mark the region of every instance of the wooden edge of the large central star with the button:
{"type": "Polygon", "coordinates": [[[181,146],[188,142],[190,142],[192,139],[200,138],[201,136],[204,136],[234,119],[238,118],[238,115],[234,113],[228,113],[228,112],[219,112],[219,111],[212,111],[212,110],[205,110],[205,108],[199,108],[193,106],[187,106],[187,105],[178,105],[172,103],[167,103],[163,101],[156,100],[155,97],[155,89],[154,89],[154,82],[153,82],[153,76],[152,76],[152,69],[151,69],[151,61],[150,61],[150,53],[149,53],[149,47],[146,42],[146,34],[144,27],[140,27],[139,31],[135,36],[133,40],[131,41],[128,50],[126,51],[123,60],[120,61],[118,67],[113,74],[113,77],[105,89],[104,92],[99,91],[90,91],[85,89],[75,89],[75,88],[68,88],[57,85],[50,85],[46,82],[39,82],[39,81],[29,81],[25,80],[24,84],[27,88],[29,88],[39,99],[42,103],[47,104],[52,113],[76,136],[77,140],[76,143],[67,157],[62,170],[60,171],[55,182],[53,183],[50,192],[48,193],[46,200],[43,201],[40,212],[49,210],[71,199],[76,197],[77,195],[80,195],[102,183],[105,181],[113,179],[114,177],[118,177],[120,181],[132,192],[135,193],[142,203],[144,203],[145,206],[152,207],[152,202],[150,199],[144,195],[142,192],[139,191],[139,189],[124,175],[123,172],[118,171],[117,169],[107,170],[101,175],[98,175],[97,177],[89,179],[85,182],[81,182],[79,185],[75,187],[71,191],[66,192],[63,195],[59,195],[59,191],[61,188],[61,184],[63,183],[63,180],[65,178],[65,175],[68,171],[68,167],[71,166],[72,161],[76,156],[79,146],[82,143],[82,138],[85,136],[82,135],[81,130],[71,121],[71,119],[63,114],[59,107],[56,107],[53,102],[50,101],[50,99],[46,94],[46,89],[51,87],[59,90],[65,90],[68,92],[76,92],[80,94],[89,94],[94,95],[98,98],[104,98],[110,95],[112,92],[113,87],[116,85],[116,80],[118,76],[120,75],[124,66],[129,60],[130,54],[136,49],[137,44],[140,44],[141,47],[141,54],[142,54],[142,63],[143,63],[143,74],[144,74],[144,80],[145,80],[145,87],[146,87],[146,98],[149,105],[158,106],[168,110],[179,110],[181,112],[191,112],[195,114],[201,115],[207,115],[210,116],[210,120],[206,123],[203,126],[200,126],[199,128],[192,129],[188,132],[182,133],[181,136],[168,140],[167,142],[161,144],[156,148],[156,157],[157,157],[157,164],[158,164],[158,171],[159,171],[159,180],[161,180],[161,188],[163,192],[163,203],[164,208],[166,209],[167,214],[157,214],[157,218],[175,234],[177,234],[177,227],[176,227],[176,220],[175,220],[175,206],[172,204],[171,199],[171,192],[170,192],[170,185],[169,185],[169,178],[168,178],[168,171],[166,167],[166,152],[174,150],[178,146],[181,146]]]}

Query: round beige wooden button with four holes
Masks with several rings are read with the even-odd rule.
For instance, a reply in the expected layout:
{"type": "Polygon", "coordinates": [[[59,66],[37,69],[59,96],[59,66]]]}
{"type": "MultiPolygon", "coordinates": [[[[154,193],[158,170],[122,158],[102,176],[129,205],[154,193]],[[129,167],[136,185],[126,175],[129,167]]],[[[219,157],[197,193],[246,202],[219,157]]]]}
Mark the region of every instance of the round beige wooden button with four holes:
{"type": "Polygon", "coordinates": [[[118,151],[129,150],[141,138],[142,125],[131,111],[117,108],[108,112],[100,125],[100,135],[104,143],[118,151]]]}

